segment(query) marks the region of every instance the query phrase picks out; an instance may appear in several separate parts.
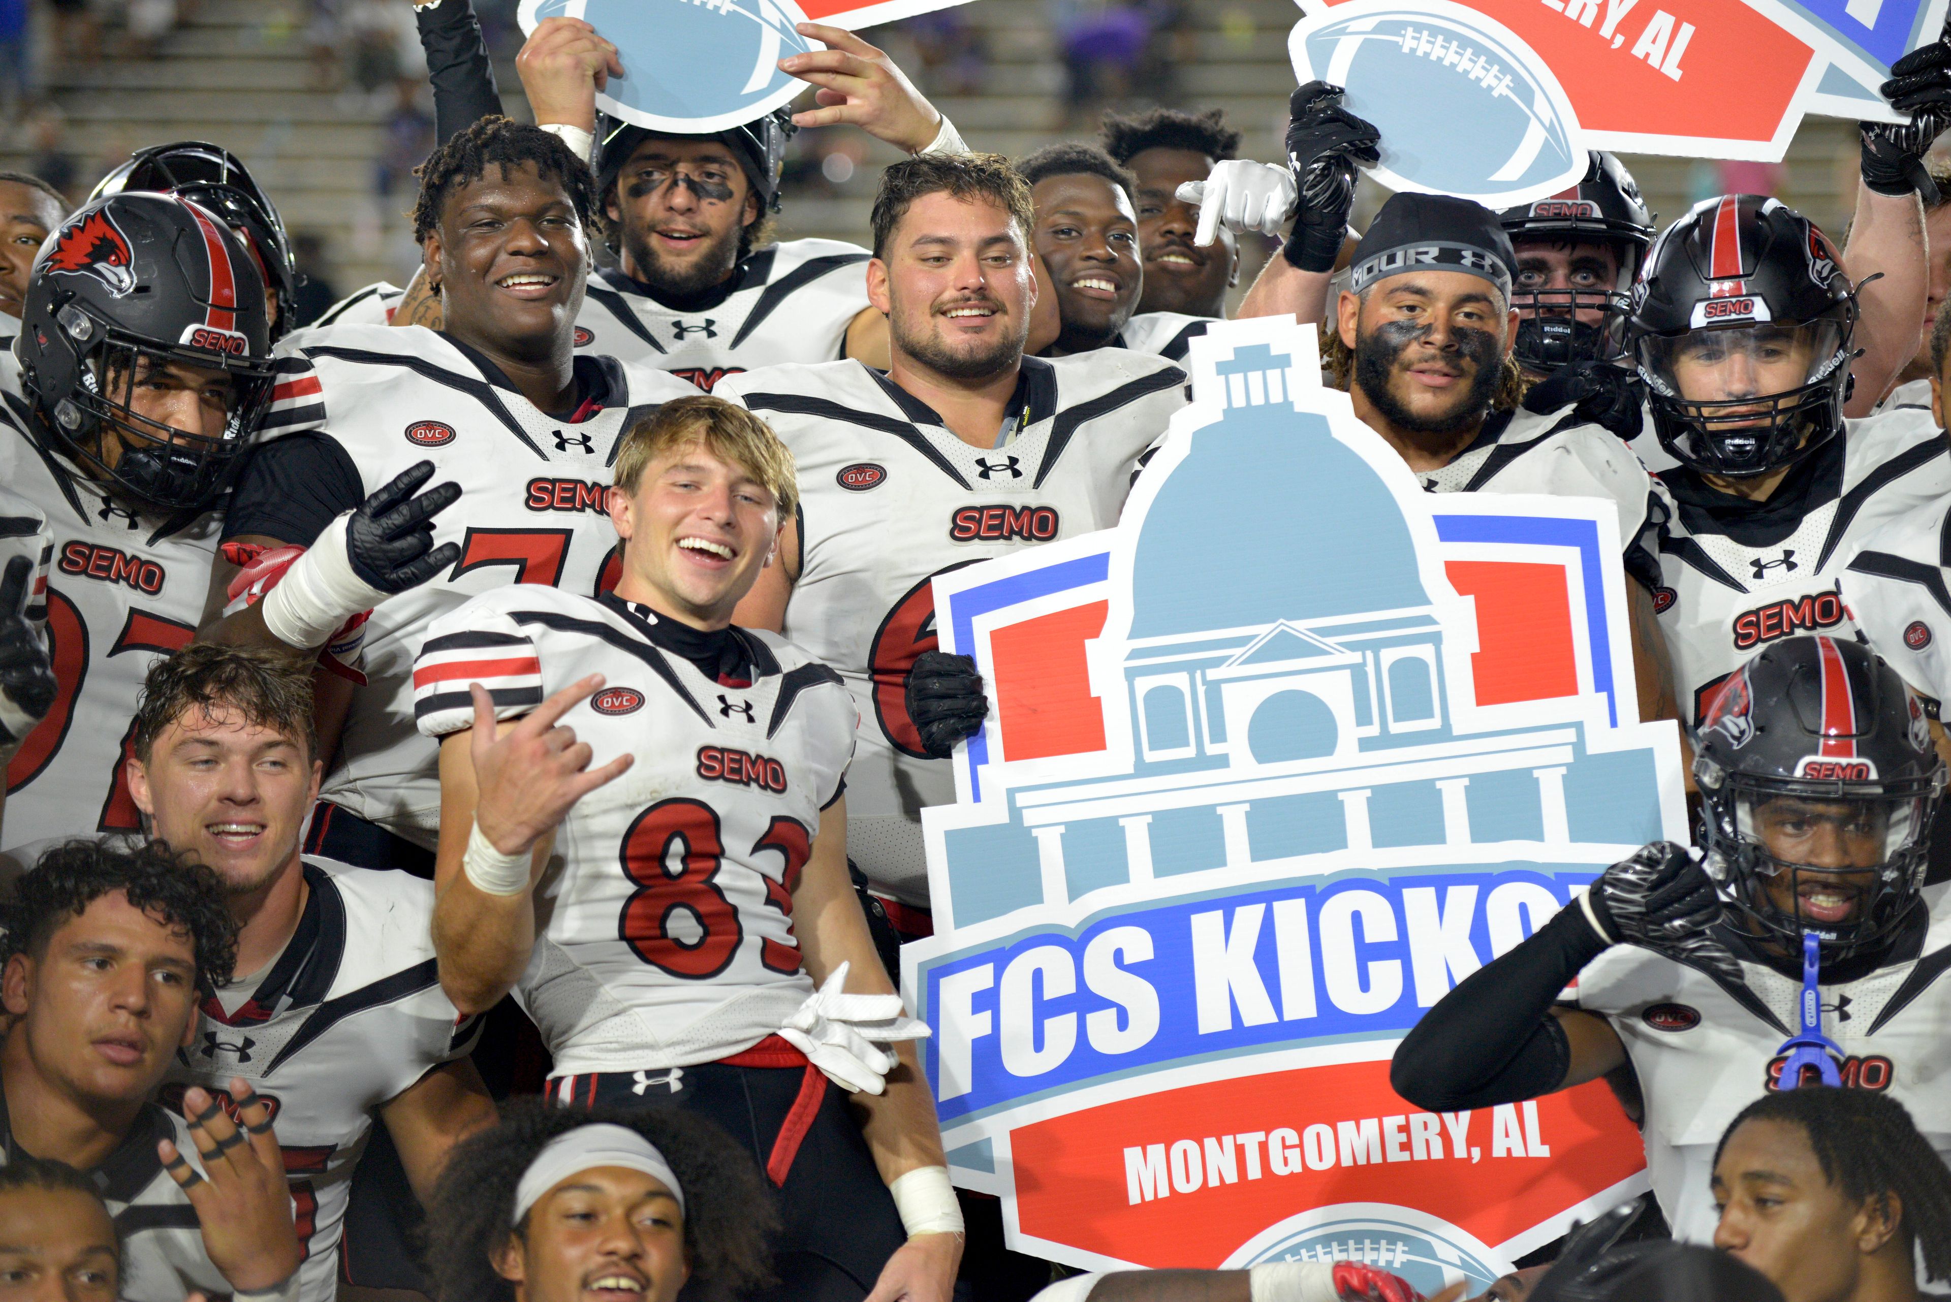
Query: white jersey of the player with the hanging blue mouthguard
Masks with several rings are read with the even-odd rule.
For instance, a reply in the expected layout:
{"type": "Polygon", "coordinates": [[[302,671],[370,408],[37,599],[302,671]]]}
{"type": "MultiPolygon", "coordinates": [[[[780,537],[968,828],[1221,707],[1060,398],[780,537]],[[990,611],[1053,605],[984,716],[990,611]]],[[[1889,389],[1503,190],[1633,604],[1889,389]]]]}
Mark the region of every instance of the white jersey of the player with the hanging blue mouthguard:
{"type": "MultiPolygon", "coordinates": [[[[1844,1085],[1889,1091],[1931,1148],[1951,1160],[1951,904],[1930,886],[1930,929],[1908,956],[1846,984],[1822,984],[1822,1035],[1846,1054],[1844,1085]]],[[[1898,953],[1906,953],[1898,949],[1898,953]]],[[[1586,964],[1574,990],[1625,1042],[1647,1117],[1647,1169],[1674,1238],[1707,1243],[1713,1154],[1734,1117],[1775,1087],[1781,1044],[1801,1029],[1801,980],[1742,960],[1744,982],[1633,945],[1586,964]]]]}

